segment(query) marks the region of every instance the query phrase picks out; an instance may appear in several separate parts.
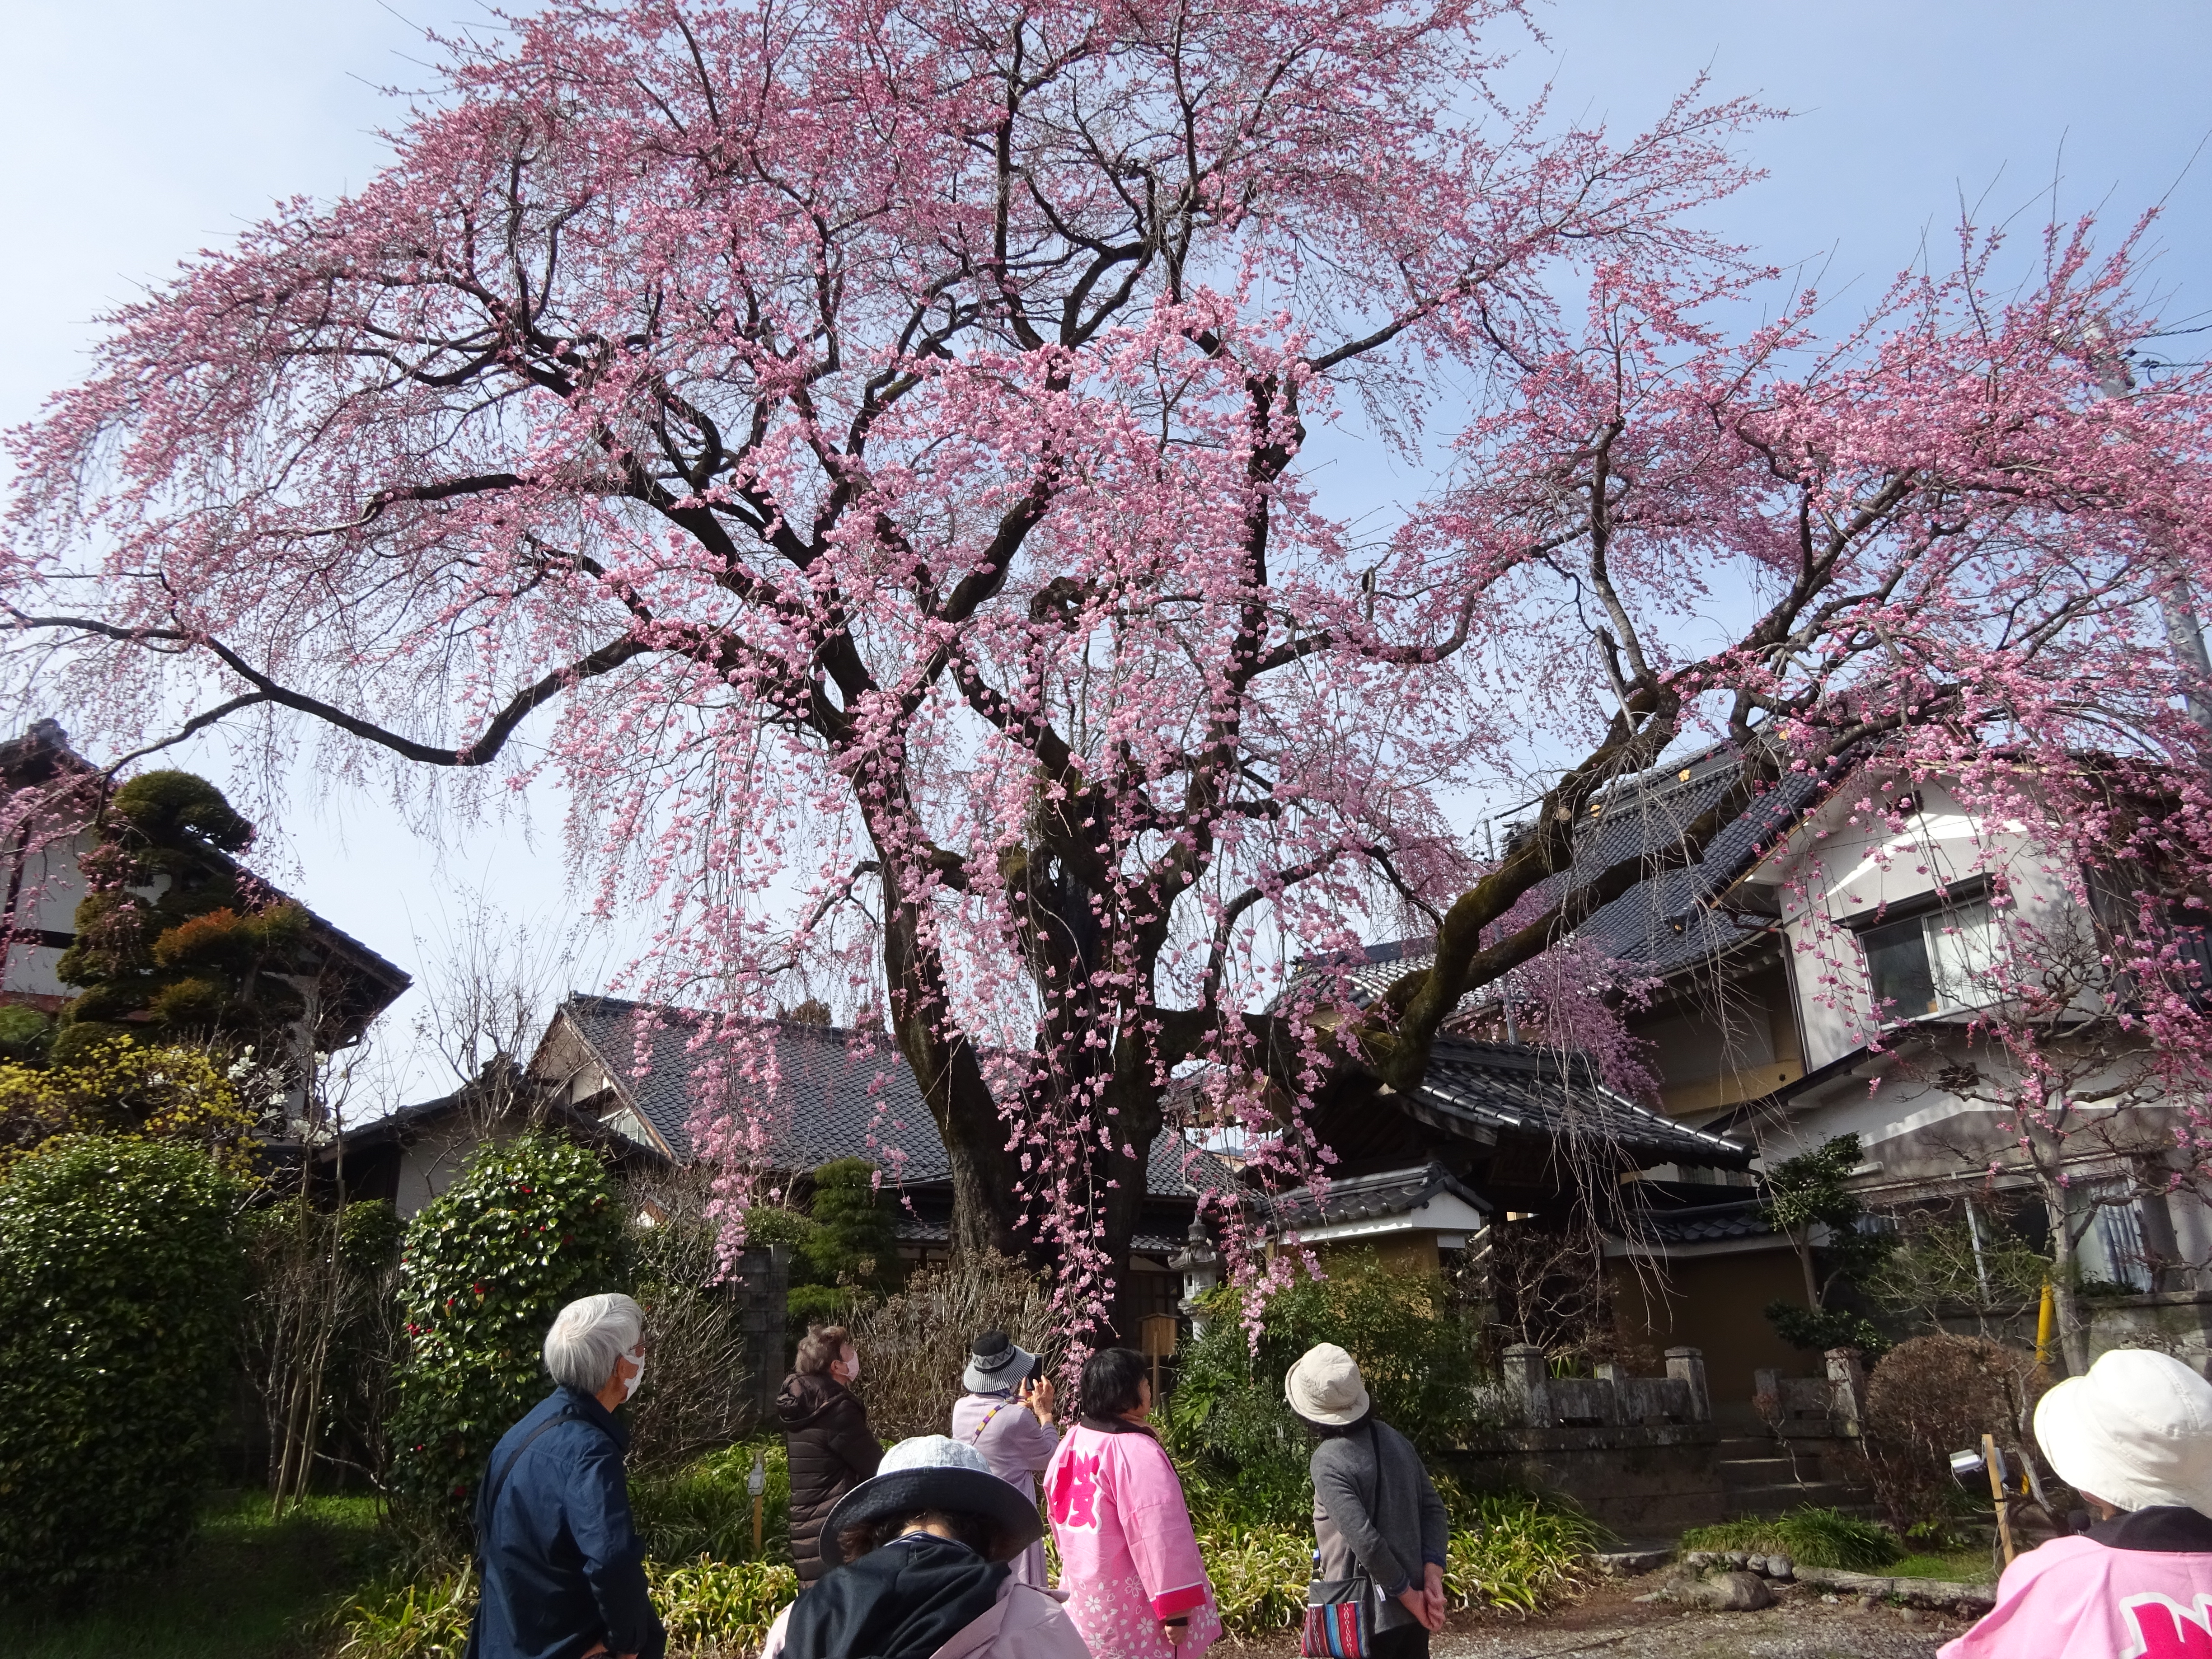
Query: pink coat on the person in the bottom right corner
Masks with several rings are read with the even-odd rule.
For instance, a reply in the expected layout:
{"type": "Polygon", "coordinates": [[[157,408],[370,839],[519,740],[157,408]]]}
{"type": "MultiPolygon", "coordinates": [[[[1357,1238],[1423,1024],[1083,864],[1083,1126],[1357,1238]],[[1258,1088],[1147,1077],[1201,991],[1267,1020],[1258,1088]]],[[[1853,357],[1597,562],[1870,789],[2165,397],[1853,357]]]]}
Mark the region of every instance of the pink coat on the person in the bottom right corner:
{"type": "Polygon", "coordinates": [[[2053,1537],[1938,1659],[2212,1659],[2212,1555],[2053,1537]]]}

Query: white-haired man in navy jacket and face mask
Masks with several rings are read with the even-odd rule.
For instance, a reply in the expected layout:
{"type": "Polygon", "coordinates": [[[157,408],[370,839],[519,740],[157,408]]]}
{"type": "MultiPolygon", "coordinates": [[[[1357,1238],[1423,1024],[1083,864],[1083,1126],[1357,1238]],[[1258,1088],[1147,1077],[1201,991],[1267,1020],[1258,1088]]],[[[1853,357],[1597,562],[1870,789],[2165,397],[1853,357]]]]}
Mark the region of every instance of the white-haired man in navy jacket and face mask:
{"type": "Polygon", "coordinates": [[[646,1595],[615,1407],[646,1371],[646,1318],[628,1296],[584,1296],[546,1332],[557,1387],[509,1429],[476,1493],[471,1659],[661,1659],[646,1595]]]}

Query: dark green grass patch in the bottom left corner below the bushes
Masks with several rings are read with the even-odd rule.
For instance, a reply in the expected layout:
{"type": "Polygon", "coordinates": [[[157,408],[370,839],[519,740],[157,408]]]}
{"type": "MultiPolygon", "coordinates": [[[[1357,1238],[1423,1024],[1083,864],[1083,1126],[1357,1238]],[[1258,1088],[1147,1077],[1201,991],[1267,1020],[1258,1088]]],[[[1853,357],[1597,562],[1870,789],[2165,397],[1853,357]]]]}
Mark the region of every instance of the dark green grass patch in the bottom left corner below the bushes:
{"type": "Polygon", "coordinates": [[[223,1493],[168,1571],[100,1586],[75,1613],[7,1615],[11,1659],[307,1659],[305,1632],[361,1577],[372,1498],[310,1498],[281,1522],[265,1493],[223,1493]]]}

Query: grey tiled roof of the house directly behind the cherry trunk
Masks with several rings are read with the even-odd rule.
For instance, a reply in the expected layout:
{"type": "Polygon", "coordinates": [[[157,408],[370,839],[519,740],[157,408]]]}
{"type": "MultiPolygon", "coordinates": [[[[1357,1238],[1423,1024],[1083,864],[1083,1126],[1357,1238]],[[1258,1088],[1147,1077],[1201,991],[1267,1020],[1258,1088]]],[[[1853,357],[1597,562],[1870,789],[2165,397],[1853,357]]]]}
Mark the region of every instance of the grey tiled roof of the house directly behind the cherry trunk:
{"type": "MultiPolygon", "coordinates": [[[[599,995],[571,995],[562,1013],[661,1139],[688,1161],[697,1066],[690,1040],[701,1015],[599,995]],[[644,1015],[653,1018],[650,1066],[637,1075],[644,1015]]],[[[779,1168],[812,1170],[838,1157],[865,1157],[900,1186],[951,1181],[936,1119],[907,1057],[889,1037],[790,1020],[763,1022],[763,1033],[776,1071],[770,1157],[779,1168]]],[[[1230,1168],[1175,1130],[1161,1130],[1152,1141],[1148,1192],[1155,1199],[1230,1186],[1230,1168]]]]}

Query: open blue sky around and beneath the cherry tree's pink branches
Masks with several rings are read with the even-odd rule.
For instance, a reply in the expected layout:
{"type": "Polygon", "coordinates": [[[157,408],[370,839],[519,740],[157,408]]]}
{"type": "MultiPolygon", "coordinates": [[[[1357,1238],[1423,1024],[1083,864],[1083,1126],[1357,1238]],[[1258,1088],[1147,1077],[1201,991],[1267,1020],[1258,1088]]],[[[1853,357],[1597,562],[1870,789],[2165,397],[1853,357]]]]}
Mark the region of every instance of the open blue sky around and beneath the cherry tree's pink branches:
{"type": "MultiPolygon", "coordinates": [[[[2212,133],[2212,7],[2201,0],[1564,0],[1533,15],[1548,42],[1528,46],[1511,84],[1551,80],[1564,115],[1637,126],[1699,71],[1721,95],[1796,111],[1750,137],[1770,177],[1712,223],[1774,263],[1820,270],[1820,288],[1845,303],[1880,292],[1922,246],[1942,259],[1962,199],[1984,219],[2022,215],[2024,232],[2053,199],[2112,223],[2163,199],[2152,270],[2163,312],[2212,310],[2212,153],[2192,166],[2212,133]]],[[[71,380],[93,316],[139,283],[279,197],[330,197],[369,177],[383,159],[374,128],[403,113],[378,86],[422,80],[422,27],[478,18],[456,0],[427,11],[414,0],[9,0],[0,422],[29,418],[71,380]]],[[[2192,354],[2188,338],[2174,347],[2192,354]]],[[[226,768],[219,750],[184,763],[226,768]]],[[[469,927],[469,894],[542,931],[575,909],[551,799],[431,845],[383,801],[299,779],[276,830],[274,874],[411,969],[469,927]],[[438,889],[453,898],[440,902],[438,889]]],[[[608,949],[619,956],[622,938],[608,949]]],[[[394,1011],[394,1037],[407,1018],[407,1004],[394,1011]]],[[[403,1055],[403,1093],[436,1082],[403,1055]]]]}

